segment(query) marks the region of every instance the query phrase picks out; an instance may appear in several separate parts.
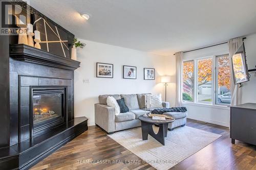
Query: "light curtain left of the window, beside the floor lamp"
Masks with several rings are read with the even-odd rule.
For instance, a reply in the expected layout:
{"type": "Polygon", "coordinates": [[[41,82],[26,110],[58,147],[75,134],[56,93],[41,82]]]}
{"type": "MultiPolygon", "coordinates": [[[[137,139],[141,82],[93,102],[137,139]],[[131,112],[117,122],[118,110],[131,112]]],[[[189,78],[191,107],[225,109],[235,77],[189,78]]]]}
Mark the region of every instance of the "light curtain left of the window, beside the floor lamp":
{"type": "Polygon", "coordinates": [[[182,94],[181,94],[181,76],[182,76],[182,58],[183,52],[175,53],[176,57],[176,99],[175,106],[182,106],[182,94]]]}

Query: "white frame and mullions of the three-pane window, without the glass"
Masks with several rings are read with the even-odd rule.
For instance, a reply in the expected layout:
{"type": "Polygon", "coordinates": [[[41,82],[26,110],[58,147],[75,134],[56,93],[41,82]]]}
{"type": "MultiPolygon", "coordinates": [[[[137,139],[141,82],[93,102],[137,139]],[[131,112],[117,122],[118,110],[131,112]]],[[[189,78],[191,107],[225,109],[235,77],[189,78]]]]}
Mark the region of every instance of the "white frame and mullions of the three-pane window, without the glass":
{"type": "MultiPolygon", "coordinates": [[[[193,75],[194,75],[194,95],[193,95],[193,101],[183,101],[182,98],[182,103],[183,104],[195,104],[195,105],[206,105],[206,106],[217,106],[217,107],[227,107],[230,106],[230,104],[217,104],[216,103],[216,93],[217,90],[216,89],[218,87],[217,83],[217,57],[219,56],[225,56],[225,55],[229,55],[229,54],[222,54],[222,55],[212,55],[212,56],[205,56],[205,57],[199,57],[199,58],[187,58],[182,60],[182,75],[181,75],[181,86],[182,86],[182,90],[181,90],[181,96],[183,93],[183,62],[185,61],[193,61],[194,64],[194,68],[193,68],[193,75]],[[211,83],[211,102],[210,103],[202,103],[202,102],[198,102],[198,60],[202,60],[202,59],[208,59],[211,58],[212,59],[212,73],[211,73],[211,78],[212,78],[212,83],[211,83]]],[[[231,78],[230,78],[231,79],[231,78]]],[[[231,82],[231,81],[230,81],[231,82]]]]}

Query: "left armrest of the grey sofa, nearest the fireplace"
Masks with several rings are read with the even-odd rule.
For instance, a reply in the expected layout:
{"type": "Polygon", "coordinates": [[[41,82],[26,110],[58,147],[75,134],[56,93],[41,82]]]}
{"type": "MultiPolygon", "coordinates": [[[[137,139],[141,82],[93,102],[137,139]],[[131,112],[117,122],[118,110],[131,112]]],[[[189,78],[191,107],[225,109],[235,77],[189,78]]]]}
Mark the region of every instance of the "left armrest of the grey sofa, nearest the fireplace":
{"type": "Polygon", "coordinates": [[[100,126],[106,132],[115,131],[115,108],[106,105],[95,105],[95,124],[100,126]]]}

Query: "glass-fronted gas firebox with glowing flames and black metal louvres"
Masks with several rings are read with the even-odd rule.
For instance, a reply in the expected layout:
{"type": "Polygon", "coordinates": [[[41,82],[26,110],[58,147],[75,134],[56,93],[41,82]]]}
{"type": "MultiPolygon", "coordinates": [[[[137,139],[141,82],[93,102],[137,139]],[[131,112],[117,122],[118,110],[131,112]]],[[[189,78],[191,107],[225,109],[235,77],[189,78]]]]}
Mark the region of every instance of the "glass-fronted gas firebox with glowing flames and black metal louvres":
{"type": "Polygon", "coordinates": [[[65,123],[67,87],[31,86],[32,136],[65,123]]]}

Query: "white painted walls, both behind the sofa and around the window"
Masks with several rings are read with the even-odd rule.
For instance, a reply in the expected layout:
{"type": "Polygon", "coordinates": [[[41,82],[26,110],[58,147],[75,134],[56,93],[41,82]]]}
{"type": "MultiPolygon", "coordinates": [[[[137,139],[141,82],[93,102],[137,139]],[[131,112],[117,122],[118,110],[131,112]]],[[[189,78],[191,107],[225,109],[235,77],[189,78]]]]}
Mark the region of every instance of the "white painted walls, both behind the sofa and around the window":
{"type": "MultiPolygon", "coordinates": [[[[84,40],[82,40],[84,41],[84,40]]],[[[256,34],[247,36],[245,50],[248,68],[256,65],[256,34]]],[[[85,41],[87,46],[78,49],[78,61],[81,67],[75,71],[75,117],[87,116],[89,125],[94,125],[94,104],[98,102],[99,94],[120,93],[162,93],[164,100],[164,86],[160,83],[160,76],[172,76],[172,83],[167,86],[167,101],[175,105],[175,56],[163,57],[129,48],[123,48],[93,41],[85,41]],[[114,78],[96,78],[96,62],[114,64],[114,78]],[[122,79],[122,65],[137,66],[137,80],[122,79]],[[143,80],[143,68],[156,68],[156,80],[143,80]],[[83,83],[89,79],[90,83],[83,83]]],[[[204,48],[184,54],[184,58],[205,57],[228,53],[227,44],[204,48]]],[[[251,79],[243,83],[242,102],[256,103],[256,75],[250,72],[251,79]]],[[[188,117],[217,125],[229,126],[229,108],[195,104],[185,104],[188,117]]]]}

